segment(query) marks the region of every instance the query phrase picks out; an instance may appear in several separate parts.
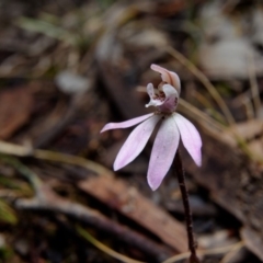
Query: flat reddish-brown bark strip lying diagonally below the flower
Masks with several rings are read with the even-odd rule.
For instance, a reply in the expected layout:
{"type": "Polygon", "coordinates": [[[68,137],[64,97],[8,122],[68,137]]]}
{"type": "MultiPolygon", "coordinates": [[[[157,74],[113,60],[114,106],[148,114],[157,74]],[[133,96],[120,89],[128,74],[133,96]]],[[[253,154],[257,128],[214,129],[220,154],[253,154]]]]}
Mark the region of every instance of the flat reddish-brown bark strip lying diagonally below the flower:
{"type": "Polygon", "coordinates": [[[81,181],[79,187],[150,230],[178,252],[187,251],[184,226],[135,187],[113,176],[102,175],[81,181]]]}

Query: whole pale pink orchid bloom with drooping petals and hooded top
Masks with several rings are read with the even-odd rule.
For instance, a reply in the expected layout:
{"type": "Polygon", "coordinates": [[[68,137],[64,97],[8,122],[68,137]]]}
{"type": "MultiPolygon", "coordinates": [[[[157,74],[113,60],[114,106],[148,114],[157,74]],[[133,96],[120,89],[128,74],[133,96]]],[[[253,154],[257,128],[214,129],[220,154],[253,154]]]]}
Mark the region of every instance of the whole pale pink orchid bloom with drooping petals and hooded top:
{"type": "Polygon", "coordinates": [[[146,107],[155,106],[157,111],[123,123],[108,123],[101,133],[139,124],[132,132],[116,157],[114,171],[117,171],[132,162],[142,151],[155,127],[160,123],[147,174],[148,184],[155,191],[160,186],[173,162],[180,136],[197,165],[202,163],[202,140],[195,126],[175,112],[181,91],[178,75],[157,65],[151,65],[151,69],[161,73],[162,82],[158,88],[153,88],[152,83],[147,85],[150,102],[146,107]]]}

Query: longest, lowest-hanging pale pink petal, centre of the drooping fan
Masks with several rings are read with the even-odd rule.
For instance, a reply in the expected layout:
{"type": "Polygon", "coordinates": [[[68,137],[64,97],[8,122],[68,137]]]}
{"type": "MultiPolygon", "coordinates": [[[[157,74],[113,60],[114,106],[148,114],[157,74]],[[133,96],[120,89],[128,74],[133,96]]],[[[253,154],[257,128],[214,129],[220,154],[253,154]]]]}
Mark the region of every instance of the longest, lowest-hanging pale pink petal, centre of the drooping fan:
{"type": "Polygon", "coordinates": [[[178,150],[180,133],[173,117],[162,121],[158,130],[149,162],[148,184],[157,190],[168,173],[178,150]]]}

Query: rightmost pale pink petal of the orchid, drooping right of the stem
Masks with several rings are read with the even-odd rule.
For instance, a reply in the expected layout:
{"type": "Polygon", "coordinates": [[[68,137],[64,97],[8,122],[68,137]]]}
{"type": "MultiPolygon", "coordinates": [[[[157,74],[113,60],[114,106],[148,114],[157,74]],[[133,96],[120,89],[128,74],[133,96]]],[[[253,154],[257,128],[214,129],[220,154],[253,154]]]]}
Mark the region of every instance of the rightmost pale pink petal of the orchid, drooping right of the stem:
{"type": "Polygon", "coordinates": [[[176,113],[174,115],[182,141],[191,157],[194,159],[195,163],[201,167],[202,164],[202,140],[198,130],[195,126],[181,114],[176,113]]]}

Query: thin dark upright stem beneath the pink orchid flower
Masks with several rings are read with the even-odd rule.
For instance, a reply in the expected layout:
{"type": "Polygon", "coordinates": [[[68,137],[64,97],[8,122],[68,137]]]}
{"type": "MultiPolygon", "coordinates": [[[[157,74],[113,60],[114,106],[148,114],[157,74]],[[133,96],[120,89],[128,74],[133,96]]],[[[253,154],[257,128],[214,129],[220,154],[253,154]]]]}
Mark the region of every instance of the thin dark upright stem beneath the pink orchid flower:
{"type": "Polygon", "coordinates": [[[186,185],[185,185],[185,181],[184,181],[184,169],[183,169],[183,163],[182,163],[182,159],[181,159],[179,150],[176,151],[173,164],[176,170],[179,186],[180,186],[182,198],[183,198],[185,221],[186,221],[186,229],[187,229],[187,237],[188,237],[188,249],[191,252],[190,263],[201,263],[198,256],[196,255],[196,251],[195,251],[197,243],[194,240],[193,218],[192,218],[192,211],[190,208],[188,192],[186,190],[186,185]]]}

